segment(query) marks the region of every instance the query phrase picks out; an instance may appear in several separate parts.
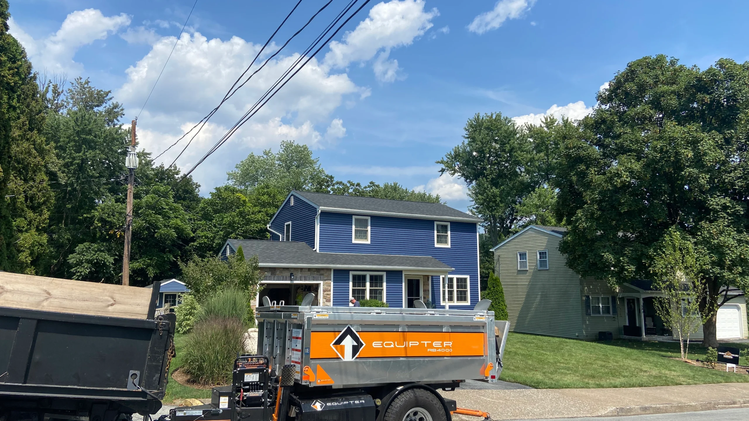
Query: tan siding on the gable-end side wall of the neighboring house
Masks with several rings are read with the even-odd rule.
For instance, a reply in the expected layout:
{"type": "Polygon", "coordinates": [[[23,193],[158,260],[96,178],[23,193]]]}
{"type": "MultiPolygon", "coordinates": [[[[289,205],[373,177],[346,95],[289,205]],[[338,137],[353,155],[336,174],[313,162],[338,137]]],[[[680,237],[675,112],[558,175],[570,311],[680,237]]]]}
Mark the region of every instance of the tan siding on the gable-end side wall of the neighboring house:
{"type": "Polygon", "coordinates": [[[582,337],[580,277],[559,252],[561,238],[530,229],[494,251],[512,331],[582,337]],[[548,270],[537,269],[537,251],[548,251],[548,270]],[[528,270],[518,271],[518,251],[527,251],[528,270]]]}

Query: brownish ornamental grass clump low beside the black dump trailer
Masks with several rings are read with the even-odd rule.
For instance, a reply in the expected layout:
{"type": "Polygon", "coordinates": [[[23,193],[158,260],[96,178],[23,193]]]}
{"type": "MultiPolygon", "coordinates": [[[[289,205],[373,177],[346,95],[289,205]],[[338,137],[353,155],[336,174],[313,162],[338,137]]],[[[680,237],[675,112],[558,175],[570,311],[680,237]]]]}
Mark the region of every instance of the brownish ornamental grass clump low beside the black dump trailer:
{"type": "Polygon", "coordinates": [[[244,353],[245,328],[238,319],[211,318],[195,325],[184,345],[185,370],[199,384],[229,384],[234,359],[244,353]]]}

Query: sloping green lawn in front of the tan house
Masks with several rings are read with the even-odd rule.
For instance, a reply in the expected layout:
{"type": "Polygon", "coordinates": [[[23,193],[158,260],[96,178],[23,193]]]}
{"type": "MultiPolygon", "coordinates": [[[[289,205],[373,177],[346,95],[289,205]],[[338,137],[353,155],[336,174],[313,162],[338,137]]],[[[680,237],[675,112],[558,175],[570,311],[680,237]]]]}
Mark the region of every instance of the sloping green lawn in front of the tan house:
{"type": "MultiPolygon", "coordinates": [[[[749,344],[735,346],[748,348],[749,344]]],[[[746,374],[692,366],[668,357],[679,357],[678,343],[587,342],[511,333],[500,378],[544,389],[749,382],[746,374]]],[[[700,344],[690,345],[691,360],[704,357],[700,344]]],[[[748,361],[742,357],[741,363],[748,361]]]]}

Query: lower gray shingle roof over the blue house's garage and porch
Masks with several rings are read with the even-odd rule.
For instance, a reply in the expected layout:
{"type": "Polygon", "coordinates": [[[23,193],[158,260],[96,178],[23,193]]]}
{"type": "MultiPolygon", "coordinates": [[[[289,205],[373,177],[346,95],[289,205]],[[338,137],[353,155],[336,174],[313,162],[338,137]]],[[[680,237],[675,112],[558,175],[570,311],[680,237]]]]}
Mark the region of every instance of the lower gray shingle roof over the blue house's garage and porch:
{"type": "Polygon", "coordinates": [[[234,251],[242,246],[246,258],[258,255],[261,267],[276,268],[368,268],[422,269],[452,271],[453,268],[431,256],[393,254],[318,253],[304,242],[272,242],[268,240],[228,240],[234,251]]]}

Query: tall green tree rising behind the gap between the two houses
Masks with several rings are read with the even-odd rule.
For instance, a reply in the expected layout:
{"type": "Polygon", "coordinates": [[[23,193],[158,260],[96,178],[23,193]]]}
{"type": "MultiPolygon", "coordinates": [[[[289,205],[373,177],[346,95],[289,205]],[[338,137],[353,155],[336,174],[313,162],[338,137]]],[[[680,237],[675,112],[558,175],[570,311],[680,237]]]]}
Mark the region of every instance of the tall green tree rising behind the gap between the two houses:
{"type": "Polygon", "coordinates": [[[496,245],[515,227],[518,206],[536,187],[533,142],[501,113],[476,114],[464,131],[465,141],[437,164],[441,173],[467,183],[471,211],[484,219],[484,230],[496,245]]]}

